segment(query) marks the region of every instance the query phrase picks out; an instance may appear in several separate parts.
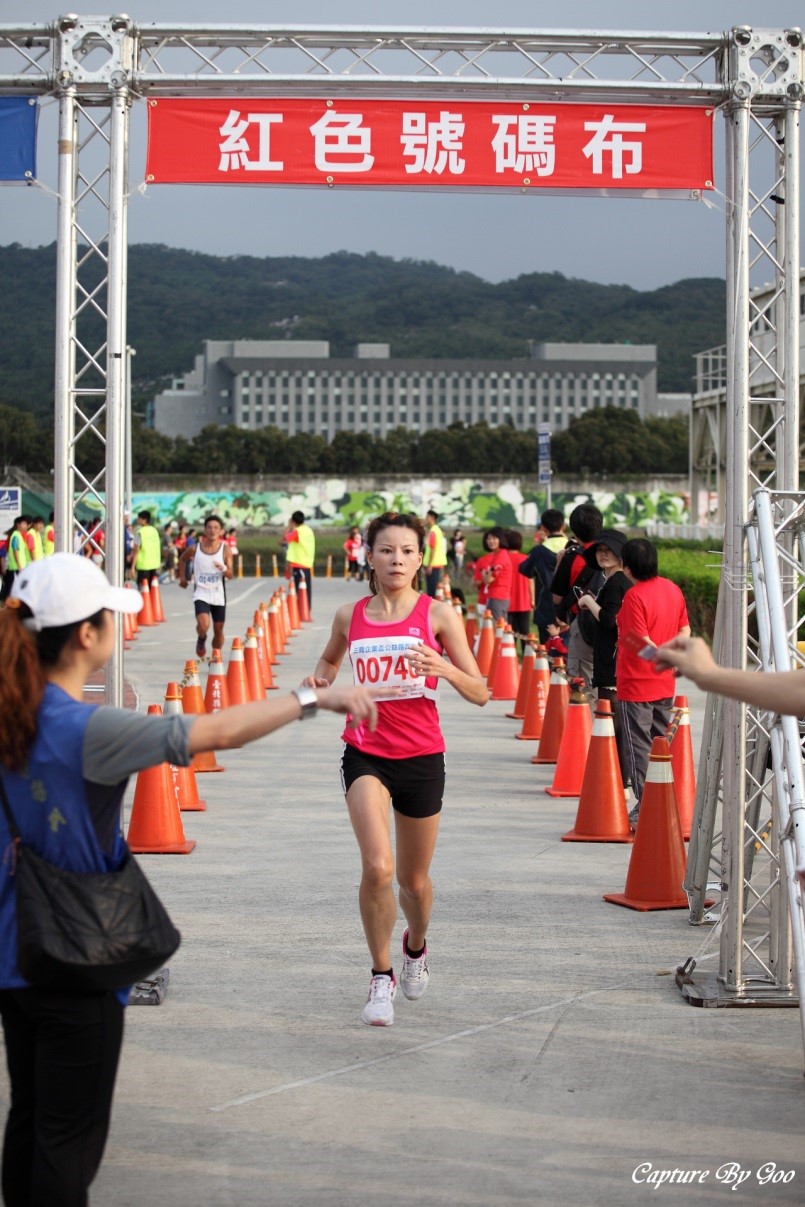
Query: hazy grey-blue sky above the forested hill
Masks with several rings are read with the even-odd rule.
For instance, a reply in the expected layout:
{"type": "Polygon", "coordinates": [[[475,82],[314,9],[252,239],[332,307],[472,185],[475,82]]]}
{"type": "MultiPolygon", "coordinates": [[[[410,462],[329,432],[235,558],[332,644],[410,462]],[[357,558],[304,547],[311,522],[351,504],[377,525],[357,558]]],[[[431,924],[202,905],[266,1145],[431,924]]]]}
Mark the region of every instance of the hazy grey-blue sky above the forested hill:
{"type": "MultiPolygon", "coordinates": [[[[62,12],[127,12],[138,22],[182,24],[342,24],[567,30],[721,31],[733,25],[805,24],[804,0],[129,0],[57,5],[0,0],[0,23],[52,21],[62,12]]],[[[56,183],[57,105],[40,122],[39,175],[56,183]]],[[[721,118],[717,119],[721,126],[721,118]]],[[[723,139],[716,142],[723,187],[723,139]]],[[[129,241],[214,255],[321,256],[375,251],[432,260],[490,281],[521,273],[654,288],[686,276],[724,275],[723,199],[596,199],[448,193],[346,192],[237,186],[151,186],[145,173],[145,112],[132,116],[129,241]]],[[[0,187],[0,243],[56,238],[56,202],[42,189],[0,187]]]]}

